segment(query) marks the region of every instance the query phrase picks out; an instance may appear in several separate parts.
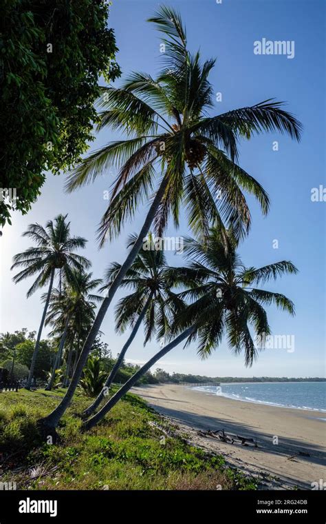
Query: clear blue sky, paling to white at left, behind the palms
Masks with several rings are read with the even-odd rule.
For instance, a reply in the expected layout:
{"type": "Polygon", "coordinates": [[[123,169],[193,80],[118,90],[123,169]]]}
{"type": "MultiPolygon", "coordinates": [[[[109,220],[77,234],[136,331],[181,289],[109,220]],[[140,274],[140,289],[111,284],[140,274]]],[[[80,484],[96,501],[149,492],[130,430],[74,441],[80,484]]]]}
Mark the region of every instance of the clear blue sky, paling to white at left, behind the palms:
{"type": "MultiPolygon", "coordinates": [[[[294,336],[294,352],[265,350],[250,369],[244,367],[242,356],[230,354],[226,342],[207,361],[197,358],[193,345],[173,350],[155,367],[209,376],[325,376],[326,203],[311,200],[312,188],[326,187],[325,2],[174,0],[166,4],[180,9],[191,50],[200,47],[204,59],[217,58],[210,81],[215,92],[221,92],[222,101],[215,103],[212,114],[275,97],[287,101],[287,110],[303,123],[299,144],[278,134],[265,134],[243,142],[240,148],[241,166],[262,183],[272,201],[270,213],[263,217],[257,204],[249,199],[253,224],[241,246],[243,261],[258,267],[290,259],[300,272],[269,285],[270,290],[286,294],[296,305],[294,318],[274,308],[268,310],[273,333],[294,336]],[[294,41],[294,58],[254,54],[254,41],[263,38],[294,41]],[[272,148],[274,141],[279,141],[278,151],[272,148]],[[277,249],[273,247],[275,240],[279,243],[277,249]]],[[[116,32],[118,62],[124,74],[138,70],[155,75],[158,70],[160,35],[153,24],[145,21],[157,6],[152,0],[113,0],[109,25],[116,32]]],[[[91,150],[114,139],[116,136],[105,130],[91,150]]],[[[41,319],[41,292],[26,299],[32,281],[14,285],[10,272],[12,256],[30,246],[30,241],[21,238],[29,223],[44,225],[56,214],[68,212],[72,233],[89,240],[83,254],[91,259],[96,277],[102,276],[111,261],[123,261],[127,234],[140,229],[146,206],[118,241],[98,250],[95,232],[107,205],[103,191],[109,189],[113,176],[107,173],[93,185],[65,194],[64,176],[49,174],[39,201],[28,215],[14,214],[13,225],[4,228],[0,240],[1,332],[23,327],[37,330],[41,319]]],[[[182,219],[179,234],[187,233],[182,219]]],[[[175,234],[173,227],[167,234],[175,234]]],[[[181,263],[180,256],[174,254],[169,254],[169,261],[181,263]]],[[[102,331],[115,355],[127,334],[115,334],[112,305],[102,331]]],[[[144,348],[140,333],[129,350],[129,360],[144,362],[158,347],[152,342],[144,348]]]]}

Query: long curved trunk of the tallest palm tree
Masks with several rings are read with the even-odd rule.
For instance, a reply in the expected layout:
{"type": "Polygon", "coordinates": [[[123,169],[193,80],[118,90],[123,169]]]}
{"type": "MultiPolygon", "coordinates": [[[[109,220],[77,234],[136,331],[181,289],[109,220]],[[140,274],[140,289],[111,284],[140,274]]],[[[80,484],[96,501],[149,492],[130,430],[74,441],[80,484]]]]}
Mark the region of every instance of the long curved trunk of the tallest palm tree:
{"type": "Polygon", "coordinates": [[[50,415],[46,416],[45,419],[42,420],[43,425],[45,425],[46,427],[49,427],[52,429],[55,428],[58,425],[58,421],[60,421],[61,417],[65,413],[65,410],[67,410],[67,407],[69,406],[70,402],[72,401],[72,397],[74,396],[74,392],[76,391],[76,387],[78,386],[80,376],[83,372],[83,367],[85,366],[87,357],[89,355],[89,352],[91,351],[91,347],[94,344],[96,335],[98,334],[100,330],[100,326],[105,317],[107,309],[109,308],[109,305],[113,299],[113,296],[116,294],[116,290],[118,290],[120,283],[122,282],[122,279],[124,278],[129,268],[131,267],[131,264],[133,263],[133,261],[135,260],[135,257],[140,252],[140,249],[142,248],[144,237],[149,232],[149,228],[151,227],[151,223],[153,222],[157,209],[160,206],[160,202],[166,190],[168,181],[169,181],[168,177],[164,177],[160,185],[160,188],[155,195],[155,199],[153,200],[153,203],[151,204],[151,208],[149,208],[149,212],[147,213],[146,219],[144,221],[144,225],[142,226],[142,229],[140,230],[140,234],[138,235],[137,240],[133,244],[133,247],[131,248],[127,256],[127,259],[122,264],[118,274],[116,275],[116,278],[111,283],[111,286],[107,292],[107,296],[102,301],[100,309],[98,310],[98,314],[96,315],[96,319],[93,325],[91,326],[91,329],[89,330],[89,334],[87,335],[87,339],[84,343],[83,350],[80,353],[80,357],[76,365],[76,370],[74,371],[72,380],[70,381],[70,384],[69,384],[69,387],[67,389],[65,396],[63,397],[61,403],[56,407],[56,409],[52,411],[50,415]]]}

